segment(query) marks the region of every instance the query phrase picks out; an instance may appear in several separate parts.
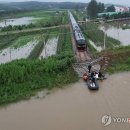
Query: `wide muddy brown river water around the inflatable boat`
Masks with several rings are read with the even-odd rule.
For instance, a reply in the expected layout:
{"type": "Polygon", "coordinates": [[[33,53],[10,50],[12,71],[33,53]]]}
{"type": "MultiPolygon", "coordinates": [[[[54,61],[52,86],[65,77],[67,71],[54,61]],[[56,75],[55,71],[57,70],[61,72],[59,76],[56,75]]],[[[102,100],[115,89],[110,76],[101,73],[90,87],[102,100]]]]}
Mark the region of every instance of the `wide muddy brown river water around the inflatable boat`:
{"type": "Polygon", "coordinates": [[[102,116],[130,117],[130,73],[100,82],[99,91],[79,82],[43,99],[0,108],[1,130],[130,130],[128,123],[104,126],[102,116]]]}

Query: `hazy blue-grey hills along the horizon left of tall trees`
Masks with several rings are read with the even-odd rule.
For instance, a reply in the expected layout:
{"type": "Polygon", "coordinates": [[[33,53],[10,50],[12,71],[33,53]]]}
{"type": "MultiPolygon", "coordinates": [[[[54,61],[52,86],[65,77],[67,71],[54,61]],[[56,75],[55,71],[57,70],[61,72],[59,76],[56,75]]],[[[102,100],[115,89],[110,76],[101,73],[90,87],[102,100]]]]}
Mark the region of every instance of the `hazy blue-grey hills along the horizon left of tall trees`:
{"type": "Polygon", "coordinates": [[[15,13],[18,11],[30,10],[48,10],[48,9],[75,9],[84,8],[86,3],[73,3],[73,2],[12,2],[0,3],[0,16],[7,13],[15,13]]]}

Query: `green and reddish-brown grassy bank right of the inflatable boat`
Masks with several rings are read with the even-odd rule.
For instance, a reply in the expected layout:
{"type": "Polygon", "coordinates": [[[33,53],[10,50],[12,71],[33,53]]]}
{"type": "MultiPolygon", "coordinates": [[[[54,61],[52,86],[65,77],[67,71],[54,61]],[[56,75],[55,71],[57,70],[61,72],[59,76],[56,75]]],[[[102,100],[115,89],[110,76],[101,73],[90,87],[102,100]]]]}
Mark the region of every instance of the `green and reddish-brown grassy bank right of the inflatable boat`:
{"type": "Polygon", "coordinates": [[[120,71],[130,71],[130,46],[108,49],[100,53],[110,58],[107,72],[113,74],[120,71]]]}

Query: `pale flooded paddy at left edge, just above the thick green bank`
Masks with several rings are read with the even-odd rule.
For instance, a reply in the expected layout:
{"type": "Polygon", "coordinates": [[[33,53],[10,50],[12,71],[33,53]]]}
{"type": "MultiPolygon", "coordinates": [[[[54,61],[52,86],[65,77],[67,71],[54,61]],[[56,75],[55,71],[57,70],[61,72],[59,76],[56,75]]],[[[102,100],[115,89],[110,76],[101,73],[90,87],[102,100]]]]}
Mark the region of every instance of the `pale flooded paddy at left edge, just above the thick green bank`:
{"type": "Polygon", "coordinates": [[[0,64],[7,63],[12,60],[27,58],[31,51],[38,44],[37,40],[30,41],[20,48],[8,47],[0,51],[0,64]]]}

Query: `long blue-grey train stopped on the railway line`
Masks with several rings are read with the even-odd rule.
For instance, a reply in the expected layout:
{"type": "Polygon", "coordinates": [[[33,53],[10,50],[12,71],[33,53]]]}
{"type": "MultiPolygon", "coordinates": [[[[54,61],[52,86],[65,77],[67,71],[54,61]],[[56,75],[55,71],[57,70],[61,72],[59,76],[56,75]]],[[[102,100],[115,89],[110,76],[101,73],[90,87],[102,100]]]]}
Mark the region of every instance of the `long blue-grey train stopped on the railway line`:
{"type": "Polygon", "coordinates": [[[86,40],[81,32],[79,25],[77,24],[75,18],[73,17],[72,13],[68,11],[68,14],[69,14],[69,19],[72,26],[75,42],[76,42],[76,47],[78,50],[84,51],[87,48],[86,40]]]}

